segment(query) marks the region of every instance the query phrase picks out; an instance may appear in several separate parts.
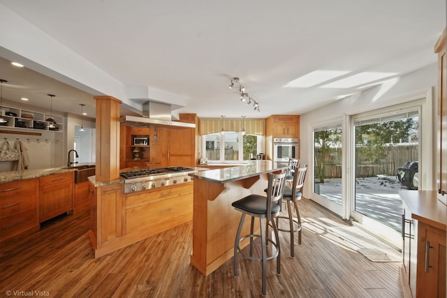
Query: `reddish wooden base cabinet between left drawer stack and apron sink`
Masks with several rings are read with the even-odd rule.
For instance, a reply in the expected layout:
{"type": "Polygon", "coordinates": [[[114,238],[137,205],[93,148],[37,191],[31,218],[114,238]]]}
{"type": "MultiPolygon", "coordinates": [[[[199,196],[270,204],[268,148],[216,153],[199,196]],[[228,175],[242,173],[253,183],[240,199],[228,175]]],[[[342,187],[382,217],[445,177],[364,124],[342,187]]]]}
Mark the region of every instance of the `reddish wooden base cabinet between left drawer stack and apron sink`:
{"type": "Polygon", "coordinates": [[[39,178],[39,222],[73,211],[73,172],[39,178]]]}

